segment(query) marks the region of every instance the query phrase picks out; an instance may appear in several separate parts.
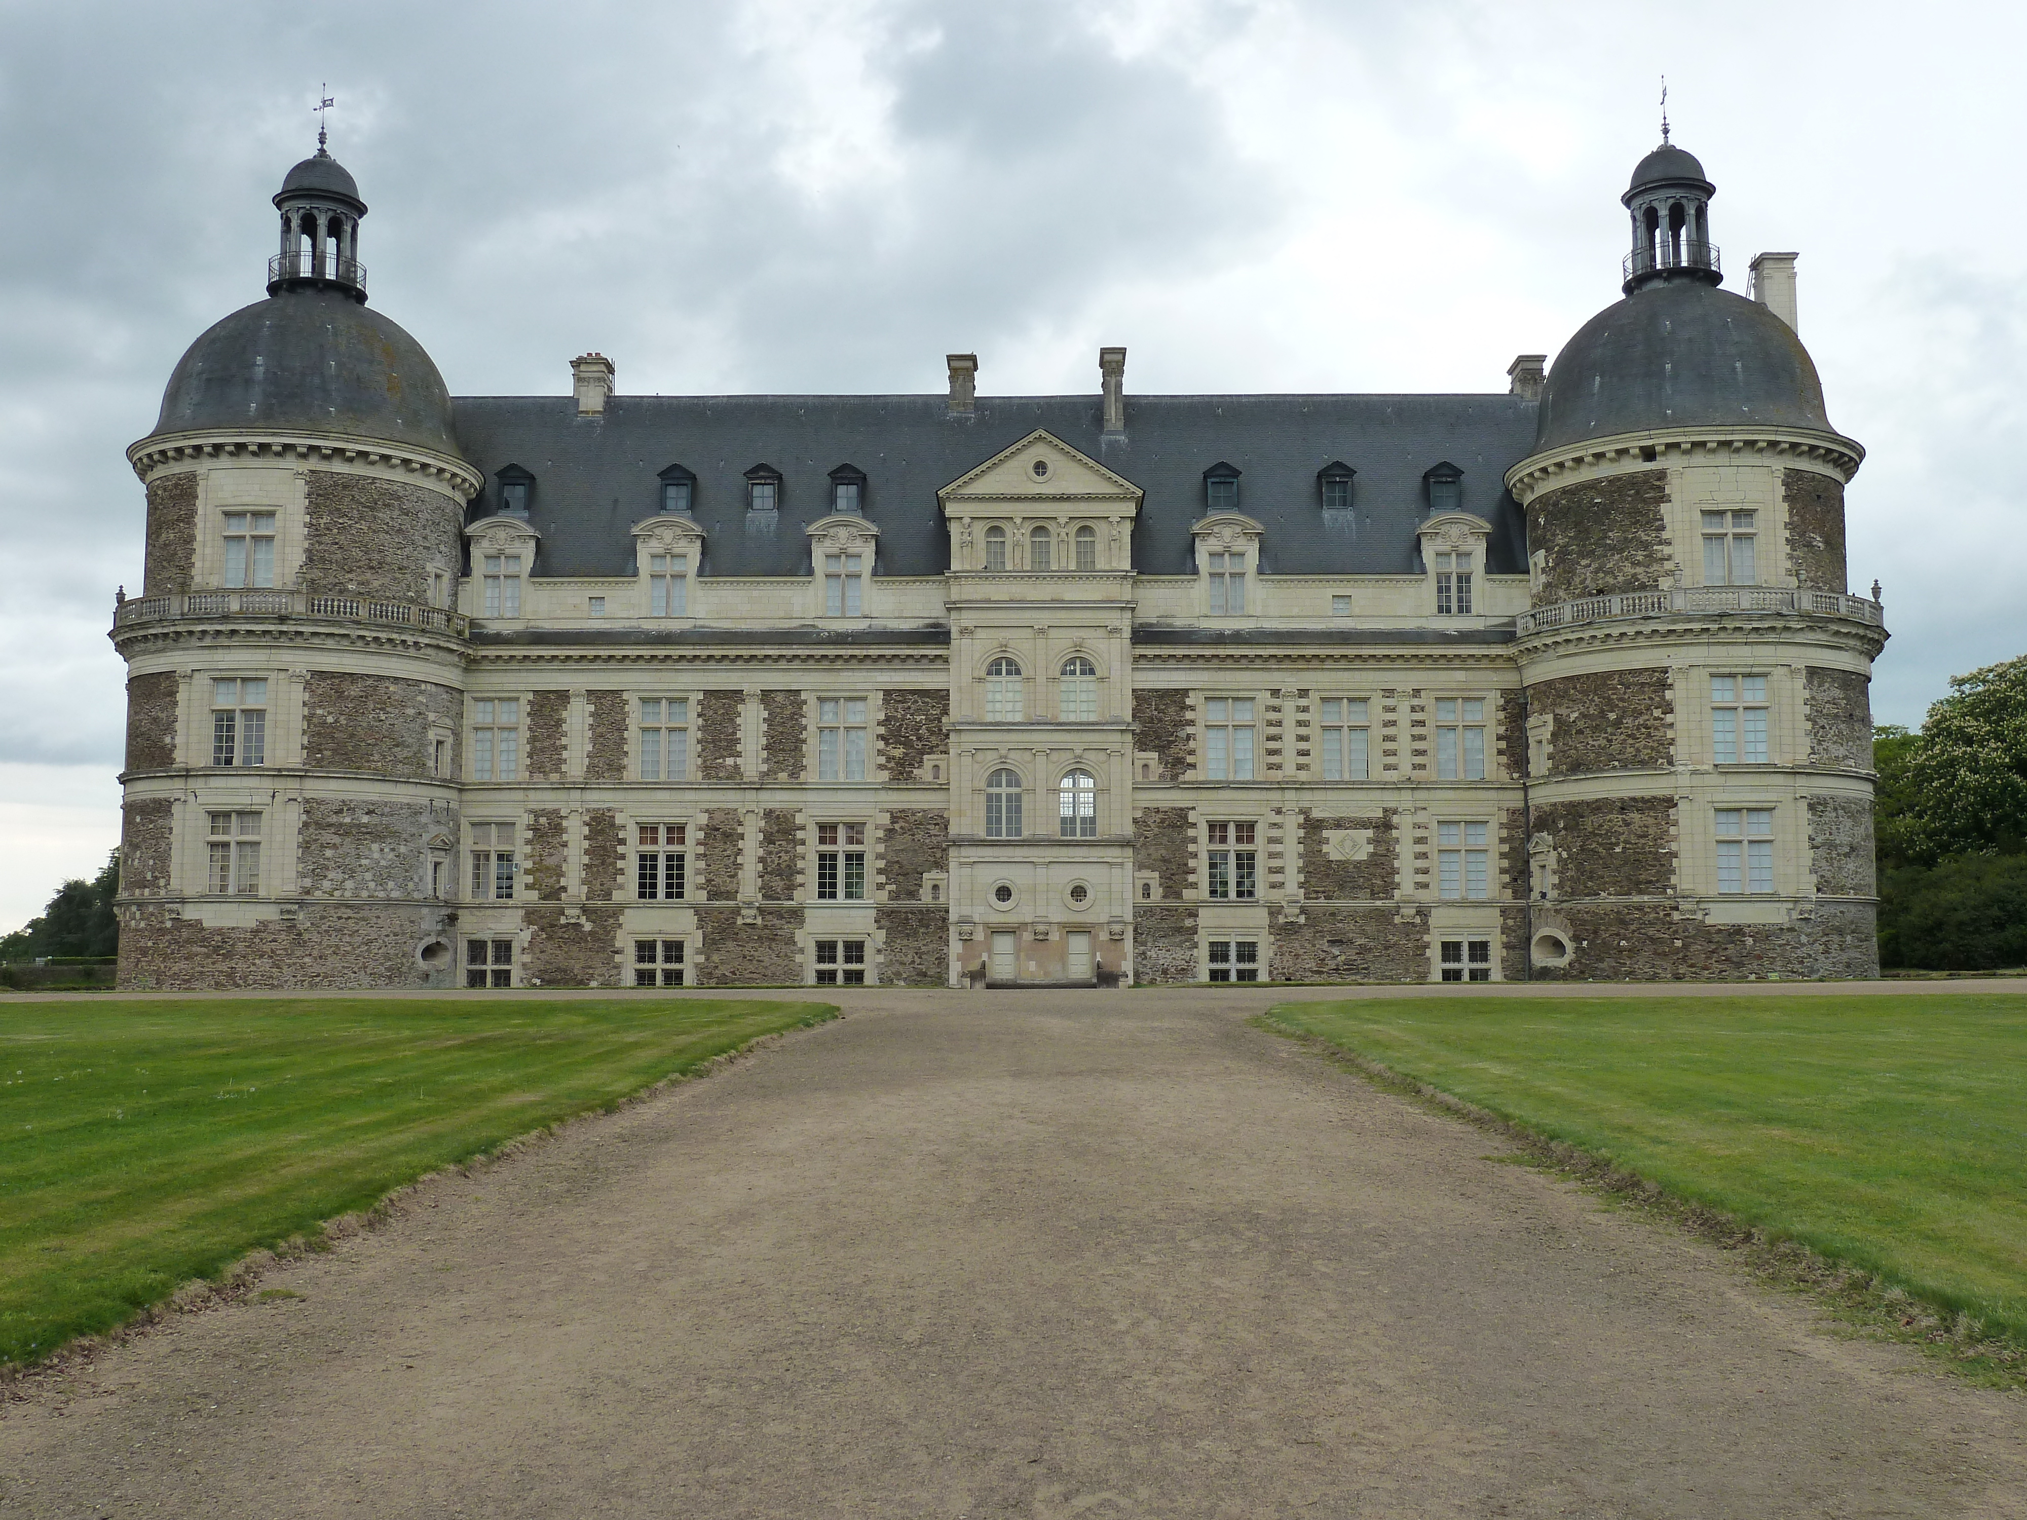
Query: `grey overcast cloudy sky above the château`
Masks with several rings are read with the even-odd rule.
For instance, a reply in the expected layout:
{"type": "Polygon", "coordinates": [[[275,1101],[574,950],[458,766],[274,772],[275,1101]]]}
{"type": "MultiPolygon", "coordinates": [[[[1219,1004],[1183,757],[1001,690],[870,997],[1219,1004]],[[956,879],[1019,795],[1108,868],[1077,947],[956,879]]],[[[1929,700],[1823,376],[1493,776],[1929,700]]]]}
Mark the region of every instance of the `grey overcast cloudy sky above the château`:
{"type": "Polygon", "coordinates": [[[0,0],[0,930],[118,839],[124,448],[330,146],[452,393],[1498,391],[1618,298],[1674,138],[1800,249],[1869,450],[1881,721],[2027,649],[2027,51],[1995,4],[0,0]]]}

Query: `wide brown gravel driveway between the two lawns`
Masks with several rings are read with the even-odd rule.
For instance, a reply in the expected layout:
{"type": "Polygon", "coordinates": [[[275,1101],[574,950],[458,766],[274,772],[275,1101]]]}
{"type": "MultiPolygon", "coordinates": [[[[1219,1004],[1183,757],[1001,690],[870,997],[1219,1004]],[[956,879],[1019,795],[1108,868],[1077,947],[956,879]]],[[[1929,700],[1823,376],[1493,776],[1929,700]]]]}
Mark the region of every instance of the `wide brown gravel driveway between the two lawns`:
{"type": "Polygon", "coordinates": [[[2027,1516],[2027,1400],[1247,1028],[849,993],[0,1419],[28,1516],[2027,1516]]]}

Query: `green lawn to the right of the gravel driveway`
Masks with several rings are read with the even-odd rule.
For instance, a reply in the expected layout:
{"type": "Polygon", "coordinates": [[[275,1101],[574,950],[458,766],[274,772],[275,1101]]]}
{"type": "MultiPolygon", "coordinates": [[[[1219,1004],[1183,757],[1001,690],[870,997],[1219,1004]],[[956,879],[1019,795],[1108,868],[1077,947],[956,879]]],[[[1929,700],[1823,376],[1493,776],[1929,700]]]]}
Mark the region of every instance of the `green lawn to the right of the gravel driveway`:
{"type": "Polygon", "coordinates": [[[2027,997],[1488,997],[1267,1017],[2027,1344],[2027,997]]]}

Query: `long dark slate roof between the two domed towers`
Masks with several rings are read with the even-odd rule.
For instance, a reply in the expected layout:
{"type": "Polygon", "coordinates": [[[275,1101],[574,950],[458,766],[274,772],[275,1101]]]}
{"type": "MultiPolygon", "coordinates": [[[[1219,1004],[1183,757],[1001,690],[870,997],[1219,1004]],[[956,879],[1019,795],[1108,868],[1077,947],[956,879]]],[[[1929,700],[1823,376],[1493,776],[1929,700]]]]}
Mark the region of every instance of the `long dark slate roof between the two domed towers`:
{"type": "Polygon", "coordinates": [[[476,521],[499,509],[499,470],[535,476],[537,576],[632,576],[628,529],[661,513],[661,472],[695,472],[705,576],[809,574],[805,527],[831,511],[831,470],[868,476],[882,576],[951,567],[936,490],[1044,428],[1137,484],[1145,499],[1133,567],[1194,574],[1190,525],[1206,515],[1204,470],[1241,470],[1238,511],[1265,527],[1271,574],[1407,576],[1429,517],[1425,474],[1463,472],[1461,509],[1492,523],[1488,569],[1526,569],[1524,521],[1506,470],[1534,442],[1536,403],[1516,395],[1135,395],[1125,440],[1103,438],[1097,395],[979,397],[969,417],[943,395],[614,395],[580,417],[572,397],[460,397],[458,452],[486,476],[476,521]],[[1322,509],[1318,470],[1356,470],[1352,509],[1322,509]],[[746,472],[780,470],[780,509],[748,513],[746,472]]]}

